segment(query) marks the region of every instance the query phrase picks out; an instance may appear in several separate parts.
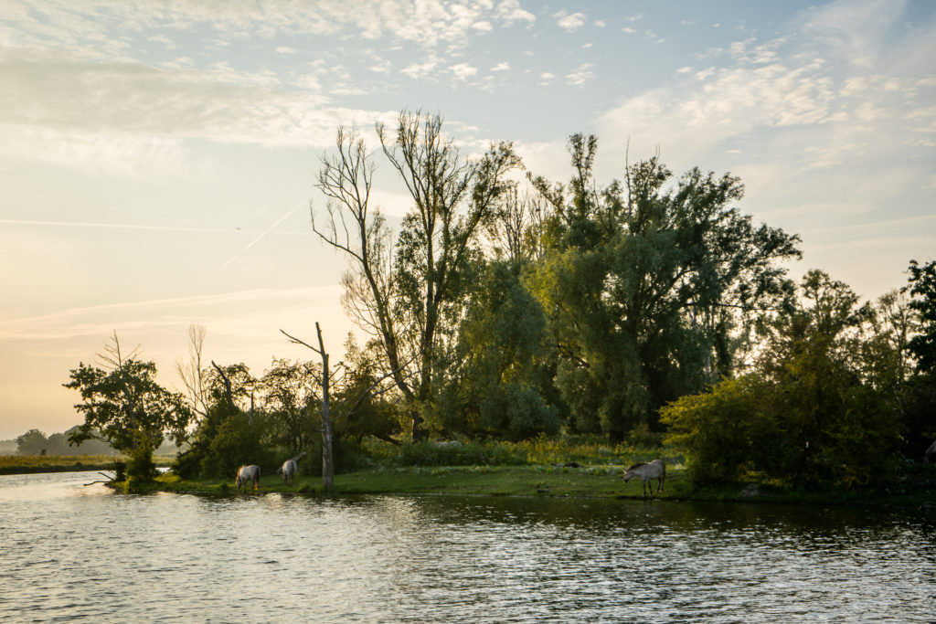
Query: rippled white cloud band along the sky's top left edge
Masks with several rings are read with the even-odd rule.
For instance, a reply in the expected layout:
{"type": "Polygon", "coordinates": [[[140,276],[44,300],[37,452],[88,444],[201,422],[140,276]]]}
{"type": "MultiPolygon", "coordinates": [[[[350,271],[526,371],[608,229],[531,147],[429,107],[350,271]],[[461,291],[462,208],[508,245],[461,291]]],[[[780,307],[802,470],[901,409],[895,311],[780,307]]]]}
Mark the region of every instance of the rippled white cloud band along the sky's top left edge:
{"type": "MultiPolygon", "coordinates": [[[[293,3],[276,9],[263,3],[232,0],[226,3],[195,0],[89,0],[80,5],[66,0],[22,0],[6,7],[3,28],[7,48],[72,51],[95,59],[125,58],[132,35],[153,30],[160,37],[198,30],[206,41],[227,46],[243,40],[272,41],[283,36],[351,36],[365,40],[393,38],[423,50],[464,47],[495,23],[510,26],[534,22],[535,16],[518,0],[461,4],[444,0],[343,0],[293,3]]],[[[163,40],[163,39],[160,39],[163,40]]],[[[289,53],[280,46],[281,53],[289,53]]]]}

